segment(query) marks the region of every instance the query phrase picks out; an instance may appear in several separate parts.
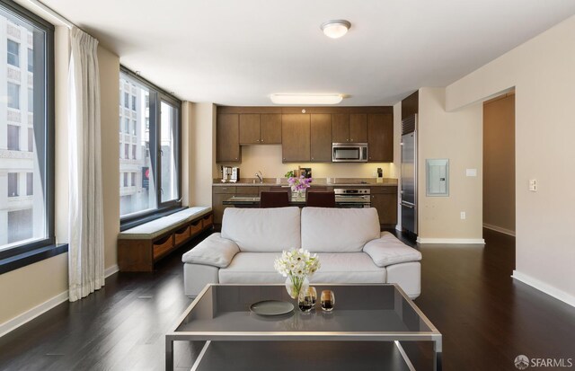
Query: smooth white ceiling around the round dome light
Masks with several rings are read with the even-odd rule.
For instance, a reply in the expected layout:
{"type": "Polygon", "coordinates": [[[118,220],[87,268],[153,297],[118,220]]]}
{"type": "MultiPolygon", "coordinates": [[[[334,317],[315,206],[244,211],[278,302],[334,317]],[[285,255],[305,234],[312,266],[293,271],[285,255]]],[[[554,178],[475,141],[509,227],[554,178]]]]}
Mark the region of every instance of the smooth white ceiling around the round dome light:
{"type": "MultiPolygon", "coordinates": [[[[446,86],[575,13],[572,0],[44,0],[181,100],[388,105],[446,86]],[[320,24],[346,19],[339,40],[320,24]]],[[[564,40],[572,42],[572,40],[564,40]]]]}

